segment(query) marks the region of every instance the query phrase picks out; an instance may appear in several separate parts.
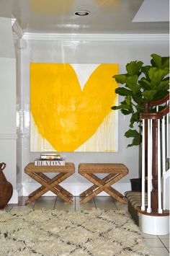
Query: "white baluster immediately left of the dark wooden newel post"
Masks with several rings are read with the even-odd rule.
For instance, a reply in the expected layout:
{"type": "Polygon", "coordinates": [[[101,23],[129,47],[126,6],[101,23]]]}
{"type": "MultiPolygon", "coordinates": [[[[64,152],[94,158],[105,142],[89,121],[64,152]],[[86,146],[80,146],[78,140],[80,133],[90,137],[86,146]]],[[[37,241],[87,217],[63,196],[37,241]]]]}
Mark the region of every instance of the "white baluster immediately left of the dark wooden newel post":
{"type": "Polygon", "coordinates": [[[151,213],[151,120],[148,119],[148,208],[147,213],[151,213]]]}

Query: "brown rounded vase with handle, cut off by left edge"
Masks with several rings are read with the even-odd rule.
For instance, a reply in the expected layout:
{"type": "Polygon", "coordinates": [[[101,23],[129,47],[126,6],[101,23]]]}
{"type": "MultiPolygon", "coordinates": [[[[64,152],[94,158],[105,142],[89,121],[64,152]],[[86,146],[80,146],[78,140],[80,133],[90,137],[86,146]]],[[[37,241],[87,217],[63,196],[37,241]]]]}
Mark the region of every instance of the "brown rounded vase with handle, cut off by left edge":
{"type": "Polygon", "coordinates": [[[4,209],[6,204],[12,198],[13,193],[12,184],[6,180],[6,177],[2,172],[5,167],[5,163],[0,163],[0,209],[4,209]]]}

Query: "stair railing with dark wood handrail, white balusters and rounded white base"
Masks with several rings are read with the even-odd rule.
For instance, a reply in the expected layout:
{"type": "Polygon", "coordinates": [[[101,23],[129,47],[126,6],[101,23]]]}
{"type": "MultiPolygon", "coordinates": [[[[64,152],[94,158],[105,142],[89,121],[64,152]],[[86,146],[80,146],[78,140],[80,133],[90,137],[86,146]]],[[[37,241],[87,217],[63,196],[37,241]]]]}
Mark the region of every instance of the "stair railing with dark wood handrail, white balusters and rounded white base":
{"type": "Polygon", "coordinates": [[[147,234],[169,234],[169,94],[145,102],[140,117],[143,142],[141,207],[136,208],[139,226],[147,234]]]}

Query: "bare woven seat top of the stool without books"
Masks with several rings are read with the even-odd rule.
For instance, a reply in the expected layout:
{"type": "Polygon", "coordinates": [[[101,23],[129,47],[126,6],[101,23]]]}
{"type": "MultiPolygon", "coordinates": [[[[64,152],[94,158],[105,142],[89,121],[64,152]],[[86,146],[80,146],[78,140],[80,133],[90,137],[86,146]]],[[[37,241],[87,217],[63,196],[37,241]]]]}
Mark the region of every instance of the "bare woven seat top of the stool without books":
{"type": "Polygon", "coordinates": [[[90,173],[126,173],[128,168],[125,164],[79,164],[79,172],[90,173]]]}

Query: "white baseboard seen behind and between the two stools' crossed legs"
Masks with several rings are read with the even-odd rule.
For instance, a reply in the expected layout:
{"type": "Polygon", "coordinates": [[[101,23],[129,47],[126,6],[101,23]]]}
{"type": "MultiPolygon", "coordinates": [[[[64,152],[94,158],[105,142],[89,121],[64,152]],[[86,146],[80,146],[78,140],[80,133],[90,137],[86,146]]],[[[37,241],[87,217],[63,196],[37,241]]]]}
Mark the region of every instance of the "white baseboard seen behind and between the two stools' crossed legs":
{"type": "MultiPolygon", "coordinates": [[[[75,196],[79,196],[82,192],[87,190],[91,185],[89,183],[62,183],[62,187],[64,187],[66,190],[68,190],[71,194],[75,196]]],[[[33,191],[35,191],[38,187],[40,187],[37,183],[29,183],[24,182],[22,183],[22,195],[27,196],[30,195],[33,191]]],[[[115,188],[115,190],[118,190],[120,193],[124,194],[125,191],[131,190],[130,182],[126,183],[117,183],[113,185],[112,187],[115,188]]],[[[47,192],[44,194],[45,196],[51,196],[54,195],[52,192],[47,192]]],[[[107,193],[100,193],[99,195],[108,195],[107,193]]]]}

